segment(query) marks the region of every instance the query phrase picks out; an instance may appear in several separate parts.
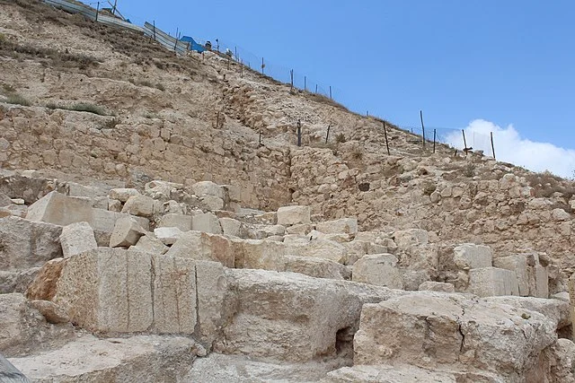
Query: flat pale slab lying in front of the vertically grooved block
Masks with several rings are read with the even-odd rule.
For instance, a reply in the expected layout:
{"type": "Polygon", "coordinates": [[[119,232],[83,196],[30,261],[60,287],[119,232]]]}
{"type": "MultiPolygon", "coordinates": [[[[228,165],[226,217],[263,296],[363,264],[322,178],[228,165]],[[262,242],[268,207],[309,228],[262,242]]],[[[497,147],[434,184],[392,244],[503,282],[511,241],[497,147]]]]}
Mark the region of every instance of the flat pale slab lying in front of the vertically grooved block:
{"type": "Polygon", "coordinates": [[[190,370],[201,345],[181,336],[83,335],[39,355],[10,361],[35,382],[176,382],[190,370]]]}

